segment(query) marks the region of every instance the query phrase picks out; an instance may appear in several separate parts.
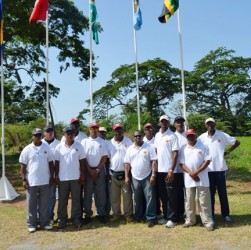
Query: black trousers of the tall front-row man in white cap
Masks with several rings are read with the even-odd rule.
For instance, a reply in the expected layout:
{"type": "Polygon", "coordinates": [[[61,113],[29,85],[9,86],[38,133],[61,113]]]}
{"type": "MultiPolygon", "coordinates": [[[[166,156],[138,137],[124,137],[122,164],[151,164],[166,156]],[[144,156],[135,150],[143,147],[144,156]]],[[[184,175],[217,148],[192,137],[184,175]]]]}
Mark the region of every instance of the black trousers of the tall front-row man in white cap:
{"type": "Polygon", "coordinates": [[[174,174],[173,182],[166,180],[167,173],[157,173],[157,189],[162,203],[164,218],[177,221],[177,177],[174,174]]]}

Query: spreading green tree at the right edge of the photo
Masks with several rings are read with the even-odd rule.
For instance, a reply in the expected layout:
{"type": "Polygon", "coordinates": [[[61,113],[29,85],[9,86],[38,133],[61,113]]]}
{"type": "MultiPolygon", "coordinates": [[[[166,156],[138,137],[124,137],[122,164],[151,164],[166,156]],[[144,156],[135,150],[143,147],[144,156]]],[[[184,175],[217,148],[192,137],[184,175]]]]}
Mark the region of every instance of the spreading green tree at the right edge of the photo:
{"type": "Polygon", "coordinates": [[[243,119],[251,118],[250,68],[251,58],[236,57],[233,50],[210,51],[186,78],[188,110],[224,121],[232,133],[243,133],[243,119]]]}

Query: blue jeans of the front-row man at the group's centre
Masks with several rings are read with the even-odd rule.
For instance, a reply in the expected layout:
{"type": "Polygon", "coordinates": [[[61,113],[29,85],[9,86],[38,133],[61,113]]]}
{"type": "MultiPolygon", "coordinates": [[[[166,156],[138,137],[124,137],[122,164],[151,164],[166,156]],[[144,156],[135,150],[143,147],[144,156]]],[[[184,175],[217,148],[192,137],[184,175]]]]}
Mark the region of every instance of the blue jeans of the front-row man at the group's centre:
{"type": "Polygon", "coordinates": [[[147,221],[155,220],[156,216],[156,192],[155,186],[150,184],[150,177],[146,177],[143,180],[137,180],[132,177],[132,190],[134,194],[135,203],[135,220],[142,220],[144,218],[142,200],[145,197],[146,200],[146,219],[147,221]]]}

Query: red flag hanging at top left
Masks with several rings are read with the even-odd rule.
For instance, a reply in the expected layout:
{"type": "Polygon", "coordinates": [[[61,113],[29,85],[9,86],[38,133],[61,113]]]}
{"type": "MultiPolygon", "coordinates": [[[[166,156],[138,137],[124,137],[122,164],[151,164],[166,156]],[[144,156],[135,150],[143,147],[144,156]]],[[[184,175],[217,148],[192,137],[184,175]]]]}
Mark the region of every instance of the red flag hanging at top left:
{"type": "Polygon", "coordinates": [[[49,0],[36,0],[29,22],[45,21],[48,7],[49,0]]]}

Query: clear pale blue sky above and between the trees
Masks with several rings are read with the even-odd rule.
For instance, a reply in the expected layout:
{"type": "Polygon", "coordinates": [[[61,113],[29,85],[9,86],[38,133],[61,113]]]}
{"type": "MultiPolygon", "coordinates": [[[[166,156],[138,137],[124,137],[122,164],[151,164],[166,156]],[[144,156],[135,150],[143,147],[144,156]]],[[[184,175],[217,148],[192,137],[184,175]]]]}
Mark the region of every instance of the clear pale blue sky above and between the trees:
{"type": "MultiPolygon", "coordinates": [[[[89,15],[88,0],[73,0],[84,15],[89,15]]],[[[93,90],[103,87],[112,72],[124,64],[135,62],[133,40],[133,14],[131,0],[96,0],[98,22],[104,31],[99,33],[99,45],[93,43],[96,66],[93,90]]],[[[180,68],[180,45],[177,13],[168,23],[162,24],[158,16],[163,0],[141,0],[143,25],[137,31],[138,62],[161,58],[180,68]]],[[[251,1],[250,0],[180,0],[180,20],[185,70],[192,70],[195,63],[210,50],[226,47],[236,51],[236,56],[250,57],[251,53],[251,1]]],[[[89,48],[89,32],[82,37],[89,48]]],[[[79,80],[78,69],[70,68],[59,73],[56,53],[50,51],[50,82],[61,89],[52,98],[56,123],[69,123],[88,108],[90,82],[79,80]]],[[[136,92],[135,92],[136,94],[136,92]]],[[[114,112],[118,112],[115,110],[114,112]]],[[[94,110],[95,113],[95,110],[94,110]]],[[[166,110],[168,115],[169,110],[166,110]]],[[[89,116],[86,117],[89,123],[89,116]]]]}

